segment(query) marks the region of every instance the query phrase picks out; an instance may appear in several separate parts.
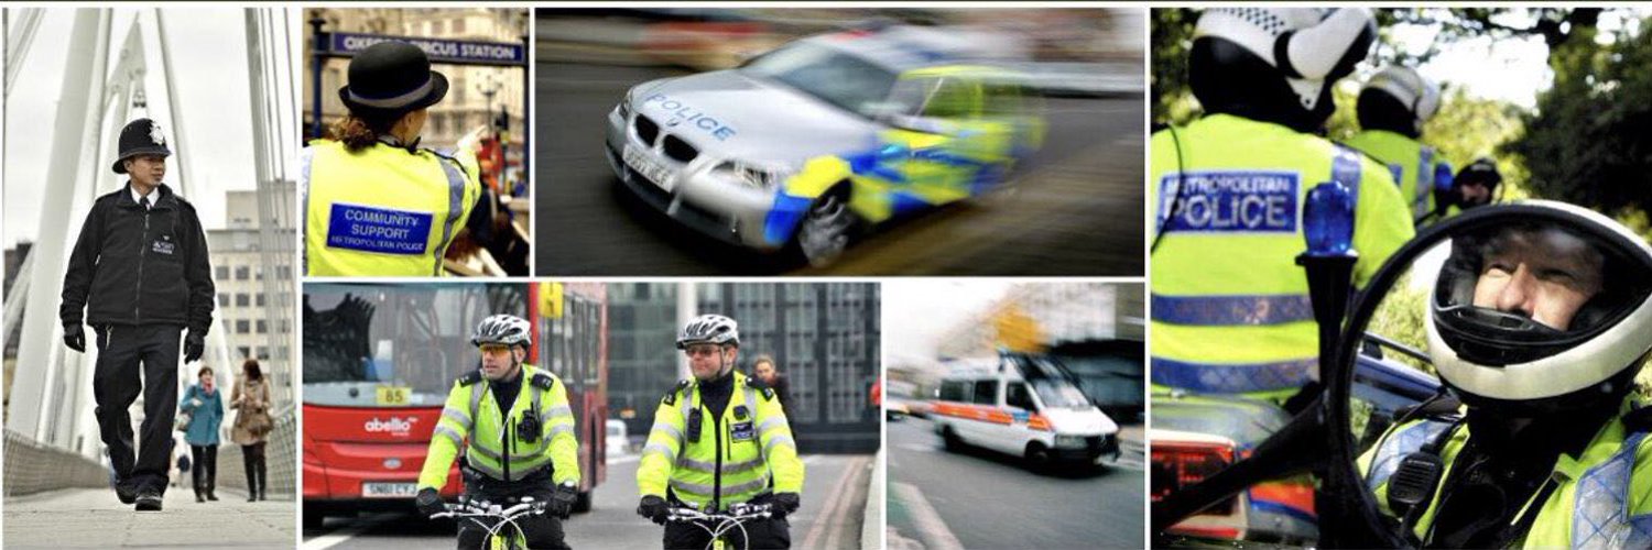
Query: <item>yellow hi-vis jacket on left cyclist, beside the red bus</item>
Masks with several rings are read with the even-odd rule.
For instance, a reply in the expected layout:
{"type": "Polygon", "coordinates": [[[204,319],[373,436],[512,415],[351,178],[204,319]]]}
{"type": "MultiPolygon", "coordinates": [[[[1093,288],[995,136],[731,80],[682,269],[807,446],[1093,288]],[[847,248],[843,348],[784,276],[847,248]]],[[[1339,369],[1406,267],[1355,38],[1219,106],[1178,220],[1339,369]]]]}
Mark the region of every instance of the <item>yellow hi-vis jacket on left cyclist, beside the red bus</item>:
{"type": "Polygon", "coordinates": [[[573,438],[573,410],[562,378],[534,365],[522,365],[522,388],[510,413],[499,411],[499,401],[479,370],[459,377],[448,391],[430,453],[418,474],[418,487],[441,489],[448,469],[464,448],[464,461],[472,469],[499,481],[519,481],[552,466],[552,481],[580,484],[580,443],[573,438]],[[522,441],[515,426],[539,415],[539,441],[522,441]],[[506,453],[506,444],[510,446],[506,453]],[[510,476],[506,476],[509,462],[510,476]]]}

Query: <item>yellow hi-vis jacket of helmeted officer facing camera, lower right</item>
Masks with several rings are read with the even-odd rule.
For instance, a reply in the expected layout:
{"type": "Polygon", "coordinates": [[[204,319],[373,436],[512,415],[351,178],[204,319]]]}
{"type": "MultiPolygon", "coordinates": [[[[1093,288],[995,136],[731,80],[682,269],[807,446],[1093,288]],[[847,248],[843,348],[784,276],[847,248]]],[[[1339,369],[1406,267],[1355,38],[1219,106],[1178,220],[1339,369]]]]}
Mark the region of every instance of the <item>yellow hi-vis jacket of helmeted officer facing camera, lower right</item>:
{"type": "MultiPolygon", "coordinates": [[[[1629,413],[1635,406],[1631,396],[1619,413],[1629,413]]],[[[1450,423],[1437,420],[1393,426],[1378,439],[1376,448],[1360,456],[1360,474],[1366,476],[1366,486],[1384,514],[1394,515],[1388,509],[1388,481],[1399,469],[1399,461],[1447,429],[1450,423]]],[[[1441,448],[1439,456],[1446,461],[1441,484],[1450,479],[1469,436],[1469,426],[1462,426],[1441,448]]],[[[1540,505],[1531,529],[1515,543],[1517,548],[1652,548],[1652,438],[1647,433],[1629,431],[1622,416],[1617,416],[1594,434],[1583,454],[1561,454],[1550,477],[1556,486],[1548,499],[1528,500],[1515,514],[1520,519],[1531,505],[1540,505]]],[[[1441,491],[1436,487],[1427,509],[1412,527],[1422,540],[1429,538],[1439,499],[1441,491]]]]}

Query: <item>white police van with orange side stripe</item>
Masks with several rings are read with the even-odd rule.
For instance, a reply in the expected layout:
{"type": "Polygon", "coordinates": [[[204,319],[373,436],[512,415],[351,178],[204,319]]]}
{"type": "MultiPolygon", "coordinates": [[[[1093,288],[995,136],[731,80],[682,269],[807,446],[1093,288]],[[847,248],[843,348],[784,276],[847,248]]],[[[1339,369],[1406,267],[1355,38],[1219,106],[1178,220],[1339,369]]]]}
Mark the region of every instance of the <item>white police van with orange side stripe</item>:
{"type": "Polygon", "coordinates": [[[950,367],[930,408],[948,451],[986,448],[1021,456],[1032,467],[1118,458],[1118,424],[1054,358],[999,353],[950,367]]]}

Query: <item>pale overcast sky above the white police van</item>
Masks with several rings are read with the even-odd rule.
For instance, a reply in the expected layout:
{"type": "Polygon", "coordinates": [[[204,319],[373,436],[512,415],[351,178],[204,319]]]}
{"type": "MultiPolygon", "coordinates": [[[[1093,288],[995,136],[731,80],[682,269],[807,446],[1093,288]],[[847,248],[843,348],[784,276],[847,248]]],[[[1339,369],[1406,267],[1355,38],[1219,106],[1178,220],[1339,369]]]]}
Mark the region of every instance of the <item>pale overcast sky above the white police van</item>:
{"type": "Polygon", "coordinates": [[[884,281],[885,365],[897,358],[935,358],[942,332],[991,306],[1011,284],[978,279],[884,281]]]}

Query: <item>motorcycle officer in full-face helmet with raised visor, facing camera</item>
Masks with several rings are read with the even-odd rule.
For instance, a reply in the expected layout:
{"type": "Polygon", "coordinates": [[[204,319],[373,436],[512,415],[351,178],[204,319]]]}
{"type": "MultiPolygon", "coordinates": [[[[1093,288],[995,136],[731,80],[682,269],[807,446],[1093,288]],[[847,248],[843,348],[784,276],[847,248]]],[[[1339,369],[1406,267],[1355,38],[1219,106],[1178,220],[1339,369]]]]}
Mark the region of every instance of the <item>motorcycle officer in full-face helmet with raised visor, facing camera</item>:
{"type": "Polygon", "coordinates": [[[1378,504],[1427,547],[1652,547],[1652,248],[1551,208],[1454,236],[1424,315],[1459,406],[1391,428],[1360,458],[1378,504]],[[1593,231],[1581,228],[1593,226],[1593,231]]]}

